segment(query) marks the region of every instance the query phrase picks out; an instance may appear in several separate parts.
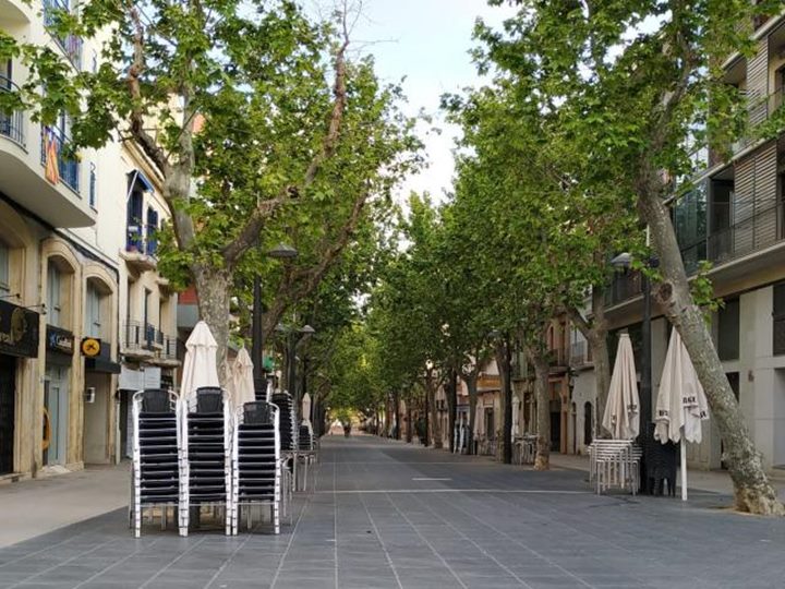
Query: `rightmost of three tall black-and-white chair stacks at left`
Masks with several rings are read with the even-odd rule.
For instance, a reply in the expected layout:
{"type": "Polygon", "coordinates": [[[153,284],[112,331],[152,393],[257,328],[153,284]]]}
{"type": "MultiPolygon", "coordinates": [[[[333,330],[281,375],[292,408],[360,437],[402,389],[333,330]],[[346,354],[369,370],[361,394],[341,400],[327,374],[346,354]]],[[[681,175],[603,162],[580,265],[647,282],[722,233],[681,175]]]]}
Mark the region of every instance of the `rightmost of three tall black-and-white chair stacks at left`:
{"type": "MultiPolygon", "coordinates": [[[[232,443],[231,532],[242,515],[252,529],[253,508],[268,505],[275,533],[280,533],[281,493],[280,410],[266,401],[246,402],[235,416],[232,443]],[[244,512],[241,514],[241,509],[244,512]]],[[[289,508],[283,504],[283,512],[289,508]]]]}

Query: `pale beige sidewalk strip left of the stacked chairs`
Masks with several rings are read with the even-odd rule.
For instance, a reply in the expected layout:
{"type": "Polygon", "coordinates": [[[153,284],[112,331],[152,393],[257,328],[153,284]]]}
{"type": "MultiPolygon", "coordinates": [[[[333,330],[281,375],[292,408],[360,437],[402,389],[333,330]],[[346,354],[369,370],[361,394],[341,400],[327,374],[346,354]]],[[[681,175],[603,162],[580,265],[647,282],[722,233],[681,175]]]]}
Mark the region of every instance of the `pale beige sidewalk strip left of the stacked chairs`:
{"type": "Polygon", "coordinates": [[[129,464],[0,485],[0,548],[128,506],[129,464]]]}

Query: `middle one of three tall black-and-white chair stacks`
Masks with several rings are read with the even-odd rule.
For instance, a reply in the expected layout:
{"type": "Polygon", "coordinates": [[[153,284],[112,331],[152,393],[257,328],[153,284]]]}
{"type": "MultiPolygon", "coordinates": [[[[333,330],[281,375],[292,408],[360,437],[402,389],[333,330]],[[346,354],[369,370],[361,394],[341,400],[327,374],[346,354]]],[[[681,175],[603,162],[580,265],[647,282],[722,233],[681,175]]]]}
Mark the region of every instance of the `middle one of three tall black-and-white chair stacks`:
{"type": "Polygon", "coordinates": [[[192,507],[213,506],[224,509],[226,533],[230,534],[232,422],[227,396],[221,388],[203,387],[183,405],[189,405],[182,411],[185,528],[192,507]]]}

